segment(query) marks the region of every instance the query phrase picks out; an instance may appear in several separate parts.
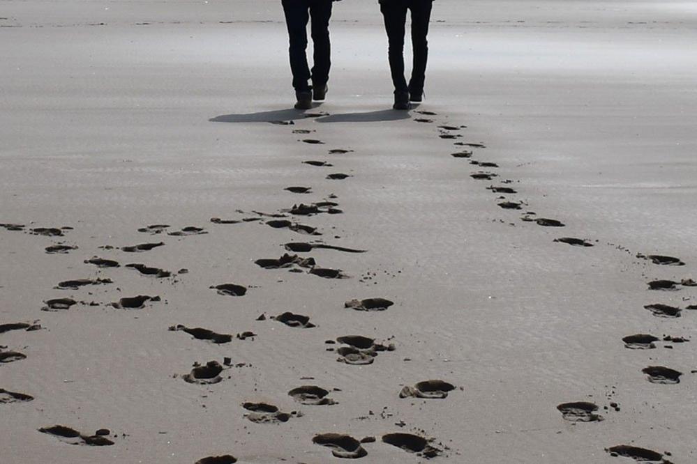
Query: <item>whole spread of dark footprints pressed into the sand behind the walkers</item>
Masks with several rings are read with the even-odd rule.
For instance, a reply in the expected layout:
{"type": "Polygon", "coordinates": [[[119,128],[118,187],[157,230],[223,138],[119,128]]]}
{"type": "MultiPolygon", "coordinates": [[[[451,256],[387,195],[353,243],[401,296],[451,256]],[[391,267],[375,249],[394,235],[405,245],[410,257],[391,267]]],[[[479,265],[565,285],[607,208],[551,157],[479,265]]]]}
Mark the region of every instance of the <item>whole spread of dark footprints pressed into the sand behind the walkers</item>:
{"type": "MultiPolygon", "coordinates": [[[[435,114],[433,111],[416,111],[419,116],[415,117],[413,121],[417,123],[431,124],[435,123],[435,114]]],[[[322,113],[317,114],[306,114],[308,118],[313,118],[317,116],[323,116],[322,113]]],[[[292,125],[292,121],[271,121],[277,125],[292,125]]],[[[453,140],[453,139],[463,139],[463,134],[461,130],[465,129],[465,125],[451,125],[451,124],[441,124],[437,126],[437,135],[440,139],[453,140]]],[[[293,130],[294,134],[310,134],[311,132],[316,132],[315,130],[304,130],[296,129],[293,130]]],[[[304,144],[310,144],[314,146],[322,146],[324,142],[320,139],[301,139],[304,144]]],[[[467,160],[467,164],[472,167],[478,168],[475,171],[470,171],[470,177],[474,180],[495,180],[500,178],[499,174],[493,169],[499,169],[499,164],[495,162],[488,162],[481,159],[474,159],[476,155],[475,150],[486,148],[484,144],[469,141],[456,141],[454,143],[460,150],[456,153],[451,153],[451,157],[455,160],[467,160]]],[[[332,148],[328,150],[329,155],[347,155],[352,153],[353,150],[347,148],[332,148]]],[[[339,160],[339,158],[336,158],[339,160]]],[[[333,167],[333,162],[328,162],[326,160],[305,160],[302,161],[303,164],[307,164],[311,167],[333,167]]],[[[346,180],[352,177],[350,174],[336,172],[329,173],[325,176],[326,180],[346,180]]],[[[511,184],[512,181],[508,179],[501,180],[498,185],[489,184],[486,189],[497,194],[497,206],[504,210],[525,210],[527,209],[527,203],[520,200],[511,200],[509,195],[516,195],[518,191],[507,184],[511,184]]],[[[312,194],[313,187],[309,186],[299,186],[292,185],[285,187],[283,189],[285,192],[290,194],[312,194]]],[[[336,196],[329,195],[329,199],[336,199],[336,196]]],[[[328,214],[336,215],[343,213],[343,210],[338,208],[338,203],[336,201],[329,201],[325,199],[324,201],[310,202],[310,203],[295,203],[291,208],[281,209],[277,213],[264,213],[264,212],[252,212],[253,215],[248,215],[243,211],[238,210],[237,212],[246,214],[246,217],[241,217],[239,219],[221,219],[219,217],[213,217],[210,219],[211,224],[216,224],[217,226],[232,225],[232,224],[265,224],[273,229],[288,229],[294,233],[299,233],[301,235],[306,235],[309,238],[318,237],[322,235],[322,231],[314,226],[301,224],[294,221],[294,217],[312,217],[314,215],[328,214]]],[[[562,228],[566,224],[558,219],[539,217],[535,212],[526,210],[520,217],[523,222],[531,222],[543,227],[552,228],[562,228]]],[[[27,227],[24,224],[0,224],[0,228],[6,229],[7,231],[21,231],[24,233],[29,233],[32,235],[43,235],[49,238],[58,238],[62,240],[66,233],[72,230],[69,226],[61,227],[27,227]]],[[[144,226],[138,229],[140,233],[147,233],[149,235],[167,235],[170,237],[186,238],[190,235],[202,235],[207,234],[209,231],[198,226],[185,226],[181,229],[172,229],[172,226],[168,224],[151,224],[149,226],[144,226]]],[[[561,236],[553,240],[556,243],[571,245],[573,247],[594,247],[597,244],[597,240],[592,241],[587,238],[575,238],[569,236],[561,236]]],[[[151,250],[158,247],[165,246],[165,242],[143,242],[137,245],[127,245],[122,247],[112,247],[106,245],[100,247],[103,250],[114,250],[126,253],[126,254],[140,254],[151,252],[151,250]]],[[[255,261],[255,264],[261,268],[267,270],[288,270],[290,272],[306,272],[307,274],[314,274],[318,277],[324,277],[327,279],[342,279],[347,278],[346,274],[342,270],[334,268],[324,268],[317,265],[315,259],[311,256],[302,256],[303,253],[312,252],[314,249],[327,249],[336,252],[344,252],[349,254],[361,254],[365,253],[364,249],[356,249],[352,247],[343,247],[338,245],[331,245],[324,240],[308,240],[308,241],[294,241],[287,242],[283,245],[287,253],[283,254],[279,258],[260,258],[255,261]]],[[[58,242],[53,245],[45,247],[46,254],[70,254],[78,250],[79,247],[74,244],[68,244],[66,242],[58,242]]],[[[680,260],[680,258],[675,258],[673,256],[664,256],[659,254],[637,254],[637,258],[643,259],[648,263],[653,265],[666,265],[666,266],[684,266],[685,263],[680,260]]],[[[114,259],[103,258],[101,256],[92,256],[84,260],[86,265],[93,265],[98,268],[98,270],[110,270],[114,268],[120,268],[121,263],[114,259]]],[[[186,269],[180,270],[178,273],[170,272],[156,267],[151,267],[145,263],[127,263],[123,265],[124,268],[129,268],[135,270],[136,272],[156,279],[165,279],[173,277],[176,274],[185,274],[188,272],[186,269]]],[[[59,290],[79,290],[80,288],[87,286],[101,286],[113,284],[113,281],[109,277],[98,277],[93,279],[72,279],[61,281],[57,284],[57,289],[59,290]]],[[[697,282],[693,279],[654,279],[647,282],[648,288],[654,291],[679,291],[680,288],[697,286],[697,282]]],[[[227,297],[243,297],[248,291],[247,286],[241,284],[224,283],[224,284],[214,284],[210,286],[211,289],[216,291],[219,295],[227,297]]],[[[146,304],[151,304],[153,302],[160,301],[160,297],[157,295],[136,295],[133,297],[121,297],[117,302],[112,302],[109,305],[117,309],[143,309],[146,304]]],[[[95,305],[96,302],[84,302],[76,301],[72,297],[60,297],[54,298],[52,300],[47,300],[44,302],[45,306],[40,308],[43,311],[67,311],[76,304],[83,305],[95,305]]],[[[394,302],[387,300],[382,297],[368,297],[364,299],[354,299],[345,302],[345,309],[351,309],[354,311],[388,311],[394,306],[394,302]]],[[[645,305],[645,309],[650,311],[655,317],[658,318],[678,318],[682,314],[682,309],[679,307],[673,307],[668,304],[661,302],[654,302],[645,305]]],[[[696,304],[691,304],[684,309],[697,309],[696,304]]],[[[285,311],[276,316],[266,316],[262,314],[257,318],[257,320],[271,320],[275,323],[280,323],[288,327],[287,330],[311,330],[315,327],[315,323],[310,322],[309,316],[304,316],[302,314],[294,314],[291,311],[285,311]]],[[[8,323],[0,325],[0,334],[8,332],[10,330],[24,330],[31,332],[33,330],[39,330],[41,328],[38,325],[38,321],[34,323],[8,323]]],[[[232,334],[218,333],[213,330],[209,330],[203,327],[187,327],[185,325],[173,325],[169,327],[172,332],[185,332],[193,339],[207,341],[214,344],[225,344],[232,343],[235,339],[246,340],[254,339],[256,334],[250,331],[240,332],[233,336],[232,334]]],[[[624,346],[631,350],[652,350],[658,348],[661,343],[664,343],[665,348],[673,348],[676,344],[685,343],[689,339],[663,334],[661,337],[656,337],[652,334],[633,334],[627,335],[622,338],[624,346]]],[[[364,337],[361,335],[345,335],[342,337],[337,337],[336,339],[331,339],[325,341],[325,346],[327,346],[327,351],[335,353],[337,355],[336,361],[354,365],[354,366],[368,366],[375,362],[378,355],[382,353],[389,353],[396,350],[396,345],[391,341],[377,342],[374,338],[364,337]]],[[[0,366],[9,362],[17,362],[26,358],[22,353],[14,350],[8,350],[5,346],[0,346],[0,366]]],[[[238,364],[239,366],[243,365],[238,364]]],[[[216,360],[211,360],[200,364],[195,362],[191,367],[190,371],[186,373],[176,374],[174,377],[181,378],[184,382],[188,382],[194,385],[215,385],[222,382],[225,378],[225,371],[232,367],[232,360],[229,357],[225,357],[223,364],[220,364],[216,360]]],[[[642,369],[641,373],[645,376],[648,382],[652,382],[657,385],[675,385],[680,382],[680,377],[683,373],[675,369],[671,369],[666,366],[647,366],[642,369]]],[[[456,385],[447,382],[446,380],[433,379],[433,380],[422,380],[415,383],[414,385],[405,385],[398,392],[398,396],[402,399],[422,399],[422,400],[444,400],[447,399],[449,394],[456,391],[458,387],[456,385]]],[[[463,387],[459,387],[463,390],[463,387]]],[[[338,401],[331,398],[331,392],[340,392],[340,389],[325,389],[317,385],[301,385],[299,387],[294,387],[290,389],[287,393],[294,401],[300,405],[306,406],[331,406],[336,405],[338,401]]],[[[26,403],[33,401],[33,396],[21,392],[10,392],[6,389],[0,388],[0,404],[1,403],[26,403]]],[[[610,403],[610,407],[616,411],[620,410],[620,406],[616,403],[610,403]]],[[[276,405],[271,403],[259,402],[255,403],[253,401],[248,401],[241,404],[241,409],[243,410],[243,417],[246,417],[250,422],[255,424],[283,424],[290,421],[293,418],[300,418],[303,416],[301,411],[291,411],[283,412],[276,405]]],[[[606,410],[609,408],[606,406],[606,410]]],[[[557,410],[560,412],[562,419],[568,422],[574,423],[591,423],[591,422],[601,422],[605,418],[599,414],[599,406],[595,403],[588,401],[571,401],[568,403],[561,403],[557,405],[557,410]]],[[[107,438],[110,435],[110,431],[107,429],[100,429],[96,431],[93,435],[80,433],[75,431],[73,428],[62,425],[48,426],[45,428],[40,428],[41,433],[47,435],[52,435],[54,438],[61,440],[69,444],[77,445],[89,445],[89,446],[108,446],[114,444],[114,441],[107,438]]],[[[115,436],[114,436],[115,438],[115,436]]],[[[351,435],[345,435],[341,433],[317,433],[311,441],[321,447],[327,447],[331,454],[337,458],[363,458],[368,456],[368,451],[366,447],[368,444],[373,444],[377,442],[375,437],[365,437],[362,439],[357,439],[351,435]],[[366,445],[366,447],[364,447],[366,445]]],[[[412,434],[412,433],[386,433],[380,438],[380,442],[397,447],[403,451],[415,454],[421,458],[435,458],[444,453],[447,453],[448,447],[442,444],[436,444],[435,439],[427,438],[423,433],[412,434]]],[[[627,458],[633,458],[635,461],[650,461],[656,463],[670,464],[668,461],[667,454],[661,454],[657,451],[652,451],[650,449],[643,449],[640,447],[634,447],[629,444],[620,444],[613,447],[606,448],[606,451],[611,456],[624,456],[627,458]]],[[[237,458],[227,454],[221,456],[208,456],[200,458],[195,464],[230,464],[236,463],[237,458]]]]}

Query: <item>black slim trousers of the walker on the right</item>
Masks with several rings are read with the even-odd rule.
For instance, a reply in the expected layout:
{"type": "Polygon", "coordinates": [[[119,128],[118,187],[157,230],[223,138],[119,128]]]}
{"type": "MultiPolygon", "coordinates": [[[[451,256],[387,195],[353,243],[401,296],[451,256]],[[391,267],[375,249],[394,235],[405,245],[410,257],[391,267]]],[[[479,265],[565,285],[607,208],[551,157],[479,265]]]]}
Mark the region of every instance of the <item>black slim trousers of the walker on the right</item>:
{"type": "Polygon", "coordinates": [[[426,80],[426,61],[428,60],[428,23],[433,0],[383,0],[380,11],[385,22],[389,43],[389,68],[396,92],[424,91],[426,80]],[[414,63],[409,85],[404,77],[404,33],[407,10],[412,12],[412,50],[414,63]]]}

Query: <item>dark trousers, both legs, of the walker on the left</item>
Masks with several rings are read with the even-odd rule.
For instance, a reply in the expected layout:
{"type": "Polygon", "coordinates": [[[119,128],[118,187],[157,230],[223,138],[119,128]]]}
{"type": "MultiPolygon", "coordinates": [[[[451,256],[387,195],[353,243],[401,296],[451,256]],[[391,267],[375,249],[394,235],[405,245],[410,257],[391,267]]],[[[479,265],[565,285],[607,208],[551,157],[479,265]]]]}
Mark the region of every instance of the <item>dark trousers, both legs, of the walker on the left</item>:
{"type": "Polygon", "coordinates": [[[285,23],[290,38],[290,70],[296,91],[308,91],[308,80],[323,86],[329,80],[331,47],[329,45],[329,18],[332,0],[282,0],[285,23]],[[315,48],[312,72],[308,66],[307,26],[312,17],[312,40],[315,48]]]}

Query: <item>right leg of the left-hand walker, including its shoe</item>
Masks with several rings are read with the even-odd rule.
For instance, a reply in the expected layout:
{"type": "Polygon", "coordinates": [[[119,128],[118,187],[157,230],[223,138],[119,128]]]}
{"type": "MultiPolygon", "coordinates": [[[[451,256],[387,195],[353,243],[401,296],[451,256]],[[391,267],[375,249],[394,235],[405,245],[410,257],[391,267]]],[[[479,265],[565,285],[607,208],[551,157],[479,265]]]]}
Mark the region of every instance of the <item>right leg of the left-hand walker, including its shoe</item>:
{"type": "Polygon", "coordinates": [[[312,40],[315,49],[315,63],[312,68],[313,88],[317,95],[324,100],[324,88],[329,81],[331,67],[331,45],[329,42],[329,18],[331,17],[331,0],[313,0],[310,3],[312,17],[312,40]]]}

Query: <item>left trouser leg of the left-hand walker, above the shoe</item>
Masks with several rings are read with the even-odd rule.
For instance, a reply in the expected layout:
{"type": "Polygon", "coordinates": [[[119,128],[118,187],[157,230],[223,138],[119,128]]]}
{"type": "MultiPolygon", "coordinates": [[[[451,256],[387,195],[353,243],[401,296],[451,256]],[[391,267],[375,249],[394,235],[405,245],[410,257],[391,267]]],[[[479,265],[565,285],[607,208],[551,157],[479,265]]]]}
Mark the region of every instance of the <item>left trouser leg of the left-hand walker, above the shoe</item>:
{"type": "Polygon", "coordinates": [[[308,46],[307,26],[310,20],[306,0],[283,0],[285,24],[290,40],[290,70],[293,73],[293,88],[297,92],[310,91],[308,80],[310,69],[306,49],[308,46]]]}

